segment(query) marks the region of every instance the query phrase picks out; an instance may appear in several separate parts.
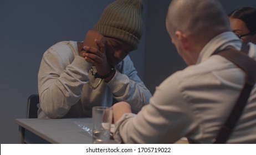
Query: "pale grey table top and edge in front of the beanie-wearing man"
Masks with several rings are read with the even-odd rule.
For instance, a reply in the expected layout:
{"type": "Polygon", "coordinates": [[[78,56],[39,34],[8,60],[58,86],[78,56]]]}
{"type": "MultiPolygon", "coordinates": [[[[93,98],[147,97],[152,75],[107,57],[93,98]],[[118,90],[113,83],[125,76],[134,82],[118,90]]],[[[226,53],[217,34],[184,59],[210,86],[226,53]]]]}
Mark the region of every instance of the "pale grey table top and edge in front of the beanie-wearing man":
{"type": "Polygon", "coordinates": [[[38,119],[18,118],[20,143],[92,143],[91,118],[38,119]]]}

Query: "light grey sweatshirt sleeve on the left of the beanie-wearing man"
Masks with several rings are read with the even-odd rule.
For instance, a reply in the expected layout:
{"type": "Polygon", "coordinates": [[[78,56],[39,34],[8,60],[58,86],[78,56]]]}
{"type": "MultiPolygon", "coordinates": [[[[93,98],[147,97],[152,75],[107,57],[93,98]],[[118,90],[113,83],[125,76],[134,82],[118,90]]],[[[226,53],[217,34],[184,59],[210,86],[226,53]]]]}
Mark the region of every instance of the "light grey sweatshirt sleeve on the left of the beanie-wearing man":
{"type": "Polygon", "coordinates": [[[68,45],[54,45],[45,51],[38,73],[40,106],[50,118],[64,116],[88,83],[91,65],[74,55],[68,45]]]}

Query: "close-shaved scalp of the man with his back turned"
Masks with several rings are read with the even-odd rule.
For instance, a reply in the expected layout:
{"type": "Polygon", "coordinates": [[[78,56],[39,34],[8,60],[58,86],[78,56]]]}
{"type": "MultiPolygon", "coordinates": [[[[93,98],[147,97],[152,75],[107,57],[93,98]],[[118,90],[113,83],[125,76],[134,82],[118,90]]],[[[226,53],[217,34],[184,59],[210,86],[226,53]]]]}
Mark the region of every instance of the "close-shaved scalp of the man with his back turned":
{"type": "Polygon", "coordinates": [[[216,0],[172,0],[166,26],[171,35],[180,30],[200,40],[210,40],[229,30],[227,14],[216,0]]]}

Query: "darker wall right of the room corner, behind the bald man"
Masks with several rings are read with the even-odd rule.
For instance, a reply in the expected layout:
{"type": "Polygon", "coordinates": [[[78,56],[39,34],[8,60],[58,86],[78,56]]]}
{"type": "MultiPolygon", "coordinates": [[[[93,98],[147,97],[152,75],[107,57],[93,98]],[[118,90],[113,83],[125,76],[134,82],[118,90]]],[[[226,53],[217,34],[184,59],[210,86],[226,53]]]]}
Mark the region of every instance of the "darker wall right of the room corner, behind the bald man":
{"type": "MultiPolygon", "coordinates": [[[[165,28],[166,13],[171,1],[148,2],[144,82],[153,94],[156,86],[175,71],[184,69],[186,64],[177,54],[165,28]]],[[[221,3],[227,13],[239,7],[256,8],[255,0],[222,0],[221,3]]]]}

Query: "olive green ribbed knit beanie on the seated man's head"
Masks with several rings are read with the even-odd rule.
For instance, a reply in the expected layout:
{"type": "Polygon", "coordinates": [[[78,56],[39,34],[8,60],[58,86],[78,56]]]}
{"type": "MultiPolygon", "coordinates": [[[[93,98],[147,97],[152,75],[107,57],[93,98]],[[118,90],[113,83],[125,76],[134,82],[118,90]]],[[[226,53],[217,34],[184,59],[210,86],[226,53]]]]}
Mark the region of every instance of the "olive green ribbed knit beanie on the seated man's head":
{"type": "Polygon", "coordinates": [[[142,11],[141,0],[116,0],[104,9],[93,29],[105,37],[122,40],[135,50],[143,31],[142,11]]]}

